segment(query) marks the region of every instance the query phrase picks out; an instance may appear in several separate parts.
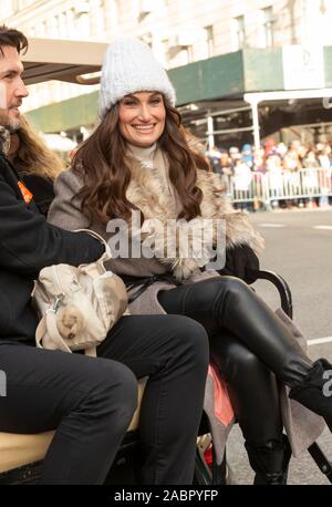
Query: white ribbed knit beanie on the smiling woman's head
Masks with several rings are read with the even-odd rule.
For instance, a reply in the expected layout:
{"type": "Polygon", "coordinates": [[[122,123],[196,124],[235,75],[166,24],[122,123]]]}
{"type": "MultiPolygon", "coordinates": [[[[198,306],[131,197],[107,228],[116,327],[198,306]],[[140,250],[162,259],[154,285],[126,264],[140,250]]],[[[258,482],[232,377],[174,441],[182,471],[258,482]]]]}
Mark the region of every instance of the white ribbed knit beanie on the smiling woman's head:
{"type": "Polygon", "coordinates": [[[148,45],[137,39],[118,39],[105,53],[100,91],[100,116],[128,93],[160,92],[175,105],[175,90],[148,45]]]}

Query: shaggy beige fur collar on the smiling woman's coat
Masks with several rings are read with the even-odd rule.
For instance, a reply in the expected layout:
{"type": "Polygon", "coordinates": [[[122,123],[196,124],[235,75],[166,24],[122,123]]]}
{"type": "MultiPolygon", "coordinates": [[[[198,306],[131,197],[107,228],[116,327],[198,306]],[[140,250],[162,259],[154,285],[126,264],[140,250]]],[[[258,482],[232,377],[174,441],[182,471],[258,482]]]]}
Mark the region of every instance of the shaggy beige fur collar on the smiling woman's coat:
{"type": "MultiPolygon", "coordinates": [[[[149,240],[158,245],[158,239],[164,240],[166,245],[166,224],[168,228],[176,230],[175,219],[177,218],[181,206],[176,190],[169,182],[169,172],[166,157],[160,149],[157,149],[154,156],[153,167],[146,169],[142,167],[137,158],[132,159],[132,179],[127,189],[127,198],[144,214],[145,221],[142,225],[142,239],[149,240]],[[152,219],[157,219],[151,223],[152,219]],[[173,225],[167,220],[173,220],[173,225]],[[170,224],[170,225],[169,225],[170,224]]],[[[225,188],[220,178],[214,173],[205,170],[197,172],[197,186],[203,190],[203,203],[200,205],[201,219],[212,219],[214,238],[217,237],[217,219],[226,220],[226,247],[232,247],[240,244],[249,245],[256,252],[263,247],[263,239],[256,232],[249,223],[248,214],[235,210],[226,196],[225,188]]],[[[179,228],[180,229],[180,228],[179,228]]],[[[170,265],[174,276],[177,279],[188,278],[195,270],[204,266],[209,258],[209,249],[203,245],[203,257],[200,261],[188,257],[187,246],[181,241],[180,234],[174,234],[175,244],[169,245],[174,256],[166,257],[166,247],[164,251],[155,249],[156,257],[162,263],[170,265]]],[[[200,236],[199,236],[200,238],[200,236]]],[[[195,232],[189,234],[190,247],[194,247],[195,232]]],[[[187,244],[187,240],[186,240],[187,244]]]]}

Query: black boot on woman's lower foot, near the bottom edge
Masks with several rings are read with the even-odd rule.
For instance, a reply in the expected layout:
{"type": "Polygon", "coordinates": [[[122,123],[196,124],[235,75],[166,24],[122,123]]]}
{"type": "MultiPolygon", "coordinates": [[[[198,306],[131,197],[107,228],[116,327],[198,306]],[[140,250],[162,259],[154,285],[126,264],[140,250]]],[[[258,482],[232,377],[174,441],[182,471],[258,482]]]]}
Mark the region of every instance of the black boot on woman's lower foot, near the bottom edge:
{"type": "Polygon", "coordinates": [[[269,441],[266,445],[256,447],[246,442],[246,448],[251,468],[256,472],[255,485],[287,484],[288,467],[292,455],[286,435],[282,442],[269,441]]]}

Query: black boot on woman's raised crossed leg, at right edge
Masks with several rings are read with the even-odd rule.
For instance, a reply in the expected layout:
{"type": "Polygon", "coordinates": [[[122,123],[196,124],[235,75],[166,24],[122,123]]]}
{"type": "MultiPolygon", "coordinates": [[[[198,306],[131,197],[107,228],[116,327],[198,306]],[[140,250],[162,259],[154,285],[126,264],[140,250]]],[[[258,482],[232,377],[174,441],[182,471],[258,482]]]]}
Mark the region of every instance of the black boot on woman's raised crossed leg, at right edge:
{"type": "Polygon", "coordinates": [[[289,397],[324,417],[332,432],[332,364],[319,359],[303,381],[290,390],[289,397]]]}

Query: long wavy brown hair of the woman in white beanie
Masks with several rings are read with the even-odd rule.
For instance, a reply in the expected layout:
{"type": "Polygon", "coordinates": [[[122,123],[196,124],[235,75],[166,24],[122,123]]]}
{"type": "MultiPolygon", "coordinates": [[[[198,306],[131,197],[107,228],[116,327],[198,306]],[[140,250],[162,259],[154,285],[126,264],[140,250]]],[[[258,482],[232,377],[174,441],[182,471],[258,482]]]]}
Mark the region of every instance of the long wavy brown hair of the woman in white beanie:
{"type": "MultiPolygon", "coordinates": [[[[205,157],[188,146],[179,112],[164,97],[165,128],[158,145],[169,162],[169,179],[180,198],[178,218],[187,220],[200,215],[201,190],[196,186],[197,168],[209,170],[205,157]]],[[[131,182],[126,141],[118,128],[118,103],[98,124],[94,133],[77,149],[73,169],[83,177],[77,194],[82,213],[103,224],[112,218],[128,220],[135,206],[126,198],[131,182]]]]}

